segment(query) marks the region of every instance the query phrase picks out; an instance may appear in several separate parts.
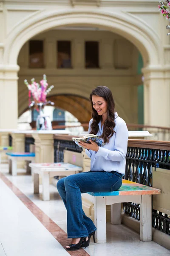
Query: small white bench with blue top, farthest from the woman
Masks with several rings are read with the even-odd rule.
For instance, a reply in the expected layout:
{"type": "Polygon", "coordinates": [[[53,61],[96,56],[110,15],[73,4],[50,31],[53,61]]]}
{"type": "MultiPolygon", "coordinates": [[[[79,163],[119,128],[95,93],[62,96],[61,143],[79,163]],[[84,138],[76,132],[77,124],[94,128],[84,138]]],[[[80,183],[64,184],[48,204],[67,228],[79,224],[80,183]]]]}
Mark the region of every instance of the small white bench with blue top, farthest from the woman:
{"type": "Polygon", "coordinates": [[[17,161],[31,161],[35,160],[35,153],[23,152],[23,153],[12,153],[7,152],[8,160],[11,161],[11,166],[9,166],[9,173],[11,175],[17,175],[17,161]]]}

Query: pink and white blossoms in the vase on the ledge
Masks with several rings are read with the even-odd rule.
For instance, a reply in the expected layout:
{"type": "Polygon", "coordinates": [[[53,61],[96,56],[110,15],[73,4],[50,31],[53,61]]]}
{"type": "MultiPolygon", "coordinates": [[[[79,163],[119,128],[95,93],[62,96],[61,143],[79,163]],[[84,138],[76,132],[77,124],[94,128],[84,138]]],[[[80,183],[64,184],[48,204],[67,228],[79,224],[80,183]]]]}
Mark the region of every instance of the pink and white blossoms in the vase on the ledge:
{"type": "Polygon", "coordinates": [[[26,79],[24,80],[24,83],[28,87],[28,99],[30,108],[34,105],[39,105],[39,103],[42,103],[42,105],[52,103],[47,102],[46,97],[47,94],[52,90],[52,88],[54,88],[54,85],[48,87],[47,78],[45,75],[43,75],[43,79],[40,81],[40,84],[38,84],[34,78],[31,79],[31,84],[28,84],[28,81],[26,79]],[[33,98],[33,101],[31,101],[31,96],[33,98]]]}

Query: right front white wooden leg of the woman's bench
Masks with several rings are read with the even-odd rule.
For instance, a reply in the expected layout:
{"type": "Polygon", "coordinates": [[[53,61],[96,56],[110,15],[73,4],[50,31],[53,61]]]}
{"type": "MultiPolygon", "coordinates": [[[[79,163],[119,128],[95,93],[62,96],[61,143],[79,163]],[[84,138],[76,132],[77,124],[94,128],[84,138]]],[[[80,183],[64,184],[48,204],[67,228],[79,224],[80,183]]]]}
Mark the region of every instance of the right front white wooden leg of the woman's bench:
{"type": "Polygon", "coordinates": [[[152,196],[142,195],[140,205],[140,240],[152,241],[152,196]]]}

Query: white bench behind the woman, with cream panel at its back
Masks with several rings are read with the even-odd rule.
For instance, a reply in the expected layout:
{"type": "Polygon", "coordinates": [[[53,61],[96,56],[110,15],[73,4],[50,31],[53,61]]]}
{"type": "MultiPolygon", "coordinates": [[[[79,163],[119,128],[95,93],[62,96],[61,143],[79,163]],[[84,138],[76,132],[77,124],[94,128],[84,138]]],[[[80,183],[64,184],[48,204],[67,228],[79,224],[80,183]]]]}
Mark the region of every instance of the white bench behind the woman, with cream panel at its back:
{"type": "Polygon", "coordinates": [[[42,200],[50,200],[50,177],[68,176],[82,172],[83,156],[80,153],[65,150],[64,163],[30,163],[34,174],[34,194],[39,194],[39,175],[42,177],[42,200]]]}

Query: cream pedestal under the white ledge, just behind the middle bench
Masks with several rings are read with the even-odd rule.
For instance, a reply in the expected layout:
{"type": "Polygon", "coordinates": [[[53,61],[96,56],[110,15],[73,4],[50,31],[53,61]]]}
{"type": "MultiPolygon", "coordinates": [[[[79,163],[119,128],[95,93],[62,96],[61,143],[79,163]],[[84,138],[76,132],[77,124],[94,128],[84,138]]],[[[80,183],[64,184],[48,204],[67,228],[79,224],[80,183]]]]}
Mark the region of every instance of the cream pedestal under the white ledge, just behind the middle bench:
{"type": "Polygon", "coordinates": [[[35,142],[35,163],[54,163],[53,134],[32,134],[35,142]]]}

